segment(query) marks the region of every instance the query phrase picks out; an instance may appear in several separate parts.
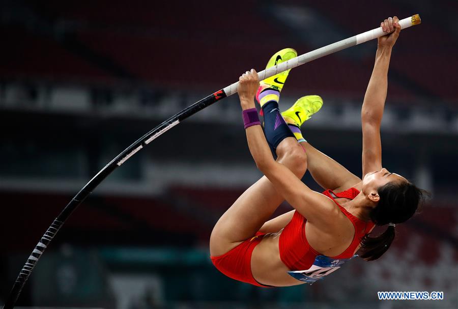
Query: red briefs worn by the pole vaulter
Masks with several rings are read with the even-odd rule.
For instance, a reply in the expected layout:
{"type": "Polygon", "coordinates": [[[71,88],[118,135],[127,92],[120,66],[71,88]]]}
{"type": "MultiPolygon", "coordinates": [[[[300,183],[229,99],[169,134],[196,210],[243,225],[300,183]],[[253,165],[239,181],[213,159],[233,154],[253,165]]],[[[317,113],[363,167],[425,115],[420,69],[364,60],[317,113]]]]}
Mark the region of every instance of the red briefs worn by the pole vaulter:
{"type": "Polygon", "coordinates": [[[268,288],[257,282],[251,273],[251,254],[254,247],[261,242],[264,233],[257,232],[237,247],[227,251],[222,256],[210,257],[213,265],[226,276],[258,287],[268,288]]]}

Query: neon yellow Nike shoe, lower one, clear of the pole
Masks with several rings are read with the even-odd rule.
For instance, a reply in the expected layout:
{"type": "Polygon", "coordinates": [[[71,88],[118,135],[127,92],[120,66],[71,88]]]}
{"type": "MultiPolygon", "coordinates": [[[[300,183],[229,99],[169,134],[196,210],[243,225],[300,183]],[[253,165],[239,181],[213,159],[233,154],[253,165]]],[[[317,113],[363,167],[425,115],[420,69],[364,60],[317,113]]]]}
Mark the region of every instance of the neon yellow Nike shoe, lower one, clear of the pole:
{"type": "Polygon", "coordinates": [[[323,106],[323,99],[320,96],[311,95],[300,98],[289,109],[283,111],[281,116],[287,123],[300,127],[304,121],[317,113],[323,106]]]}

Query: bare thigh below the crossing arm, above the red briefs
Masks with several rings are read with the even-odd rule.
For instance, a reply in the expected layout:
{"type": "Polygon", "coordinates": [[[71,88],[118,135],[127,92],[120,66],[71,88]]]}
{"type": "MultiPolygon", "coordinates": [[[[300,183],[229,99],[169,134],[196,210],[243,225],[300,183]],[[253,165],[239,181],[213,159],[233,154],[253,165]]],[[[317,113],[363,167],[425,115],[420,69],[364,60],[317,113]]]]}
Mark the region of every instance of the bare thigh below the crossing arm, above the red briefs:
{"type": "Polygon", "coordinates": [[[282,202],[281,195],[263,176],[243,192],[216,222],[210,237],[210,254],[222,255],[253,237],[282,202]]]}

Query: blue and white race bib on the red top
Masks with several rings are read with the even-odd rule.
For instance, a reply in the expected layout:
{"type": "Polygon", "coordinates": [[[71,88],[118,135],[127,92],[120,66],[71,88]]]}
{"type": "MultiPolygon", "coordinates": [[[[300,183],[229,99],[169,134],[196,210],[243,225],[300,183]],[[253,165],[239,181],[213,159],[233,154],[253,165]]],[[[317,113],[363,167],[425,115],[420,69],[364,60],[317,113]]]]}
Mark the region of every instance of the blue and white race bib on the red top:
{"type": "Polygon", "coordinates": [[[289,271],[288,273],[298,280],[312,284],[319,279],[323,279],[324,276],[327,276],[331,272],[336,271],[342,264],[354,257],[357,257],[357,255],[354,255],[350,259],[333,259],[326,256],[317,256],[309,269],[289,271]]]}

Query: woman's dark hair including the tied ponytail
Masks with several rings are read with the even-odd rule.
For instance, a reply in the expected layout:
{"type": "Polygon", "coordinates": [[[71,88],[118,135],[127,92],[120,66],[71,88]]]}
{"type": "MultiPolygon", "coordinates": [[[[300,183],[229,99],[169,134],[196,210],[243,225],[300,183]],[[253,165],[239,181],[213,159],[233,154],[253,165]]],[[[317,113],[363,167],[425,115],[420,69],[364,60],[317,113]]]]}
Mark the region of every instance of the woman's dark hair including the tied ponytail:
{"type": "MultiPolygon", "coordinates": [[[[389,182],[378,188],[378,193],[379,203],[369,213],[370,219],[377,226],[407,221],[415,214],[424,198],[431,195],[428,191],[407,181],[389,182]]],[[[388,250],[394,239],[395,230],[390,224],[382,234],[369,237],[370,234],[365,235],[361,240],[362,253],[359,256],[366,261],[377,260],[388,250]]]]}

